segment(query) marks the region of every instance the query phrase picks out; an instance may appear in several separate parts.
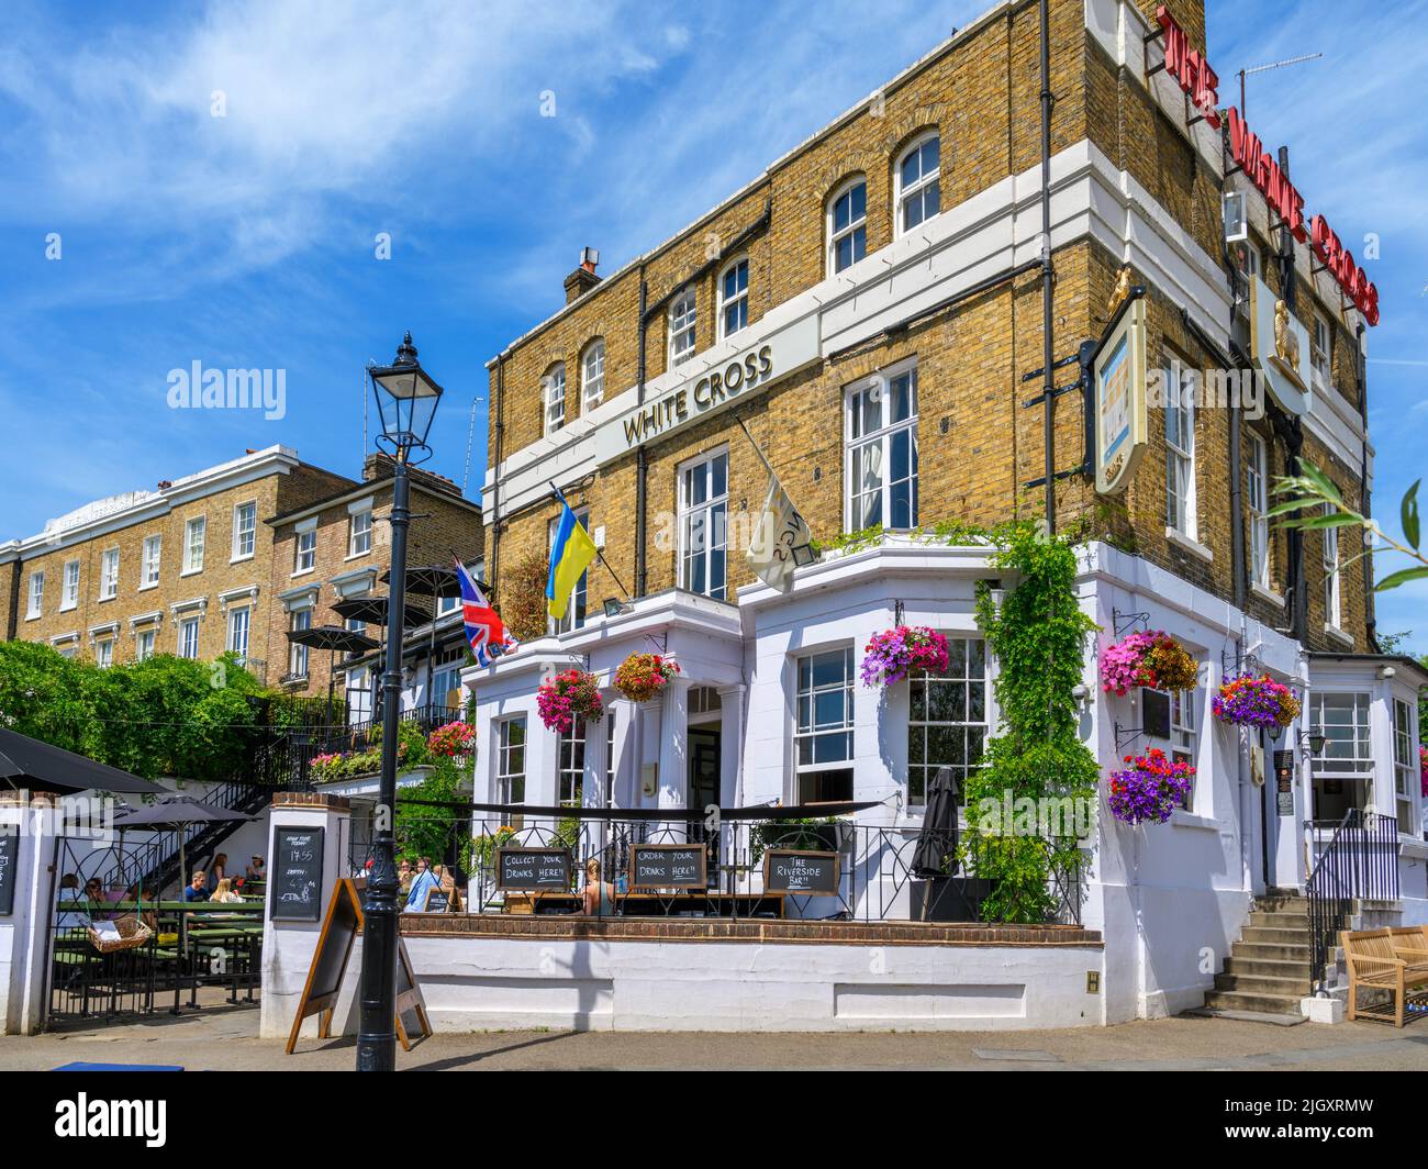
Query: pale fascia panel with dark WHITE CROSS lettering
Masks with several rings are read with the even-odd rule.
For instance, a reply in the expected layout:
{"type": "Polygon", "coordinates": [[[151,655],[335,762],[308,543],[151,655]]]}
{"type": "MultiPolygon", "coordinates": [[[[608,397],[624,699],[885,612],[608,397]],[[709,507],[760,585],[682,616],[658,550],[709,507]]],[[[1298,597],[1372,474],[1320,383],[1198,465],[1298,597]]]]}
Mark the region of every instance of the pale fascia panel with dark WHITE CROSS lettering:
{"type": "Polygon", "coordinates": [[[727,357],[700,362],[684,382],[604,423],[595,432],[595,460],[607,463],[668,437],[740,399],[763,393],[817,357],[818,319],[808,316],[727,357]]]}

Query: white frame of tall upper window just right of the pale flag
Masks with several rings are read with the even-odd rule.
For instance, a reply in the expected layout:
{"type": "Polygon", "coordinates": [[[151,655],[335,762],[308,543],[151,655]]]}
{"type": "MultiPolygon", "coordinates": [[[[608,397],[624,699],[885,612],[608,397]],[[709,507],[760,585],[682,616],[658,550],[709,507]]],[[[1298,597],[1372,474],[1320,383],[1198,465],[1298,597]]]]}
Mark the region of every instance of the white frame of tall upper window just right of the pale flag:
{"type": "Polygon", "coordinates": [[[877,449],[875,459],[880,466],[877,469],[878,484],[875,490],[880,493],[880,523],[888,530],[902,532],[917,527],[918,520],[918,434],[917,434],[917,419],[918,419],[918,384],[917,384],[917,359],[907,362],[900,362],[887,370],[880,370],[871,377],[864,377],[860,382],[854,382],[844,390],[844,406],[843,406],[843,469],[844,469],[844,489],[843,489],[843,530],[844,532],[861,532],[871,524],[865,522],[867,509],[861,504],[861,500],[870,497],[874,489],[864,490],[868,473],[864,472],[861,476],[854,473],[854,464],[867,466],[870,454],[868,452],[877,449]],[[910,412],[905,419],[898,419],[890,422],[892,416],[892,407],[895,394],[892,393],[892,386],[895,382],[907,377],[908,380],[908,394],[910,394],[910,412]],[[857,436],[854,430],[863,426],[863,416],[860,413],[861,404],[868,400],[868,396],[875,396],[880,412],[880,424],[875,429],[863,430],[857,436]],[[908,432],[908,474],[905,479],[892,480],[892,446],[897,437],[908,432]],[[892,516],[892,496],[894,487],[898,483],[908,484],[908,523],[895,524],[892,516]]]}

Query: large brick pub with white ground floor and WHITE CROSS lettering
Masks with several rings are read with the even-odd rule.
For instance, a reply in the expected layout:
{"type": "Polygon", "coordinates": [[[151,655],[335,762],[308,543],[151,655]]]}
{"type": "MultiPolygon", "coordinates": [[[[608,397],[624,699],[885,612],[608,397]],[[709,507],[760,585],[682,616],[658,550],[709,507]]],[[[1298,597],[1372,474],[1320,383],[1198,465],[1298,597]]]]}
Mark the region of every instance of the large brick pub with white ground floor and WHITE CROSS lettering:
{"type": "Polygon", "coordinates": [[[1365,277],[1325,264],[1327,226],[1299,229],[1287,156],[1230,124],[1201,3],[1048,7],[1045,170],[1041,13],[995,4],[673,239],[605,279],[584,263],[564,307],[490,362],[483,507],[498,599],[510,607],[545,554],[550,480],[610,570],[591,566],[560,627],[467,680],[478,800],[857,799],[877,802],[861,822],[912,839],[927,777],[975,766],[997,730],[997,663],[972,615],[977,580],[994,574],[985,547],[917,533],[1048,509],[1058,530],[1087,526],[1080,596],[1097,646],[1164,629],[1201,665],[1195,690],[1117,697],[1088,653],[1084,737],[1102,775],[1151,746],[1198,769],[1164,826],[1130,829],[1102,800],[1082,922],[1102,932],[1105,966],[1082,1019],[1114,1022],[1200,1005],[1254,899],[1304,887],[1307,833],[1308,850],[1321,842],[1305,823],[1349,807],[1397,820],[1399,909],[1428,917],[1424,679],[1378,653],[1352,529],[1291,534],[1264,516],[1295,457],[1367,503],[1362,354],[1378,307],[1365,277]],[[1268,393],[1262,409],[1152,400],[1125,482],[1098,492],[1081,467],[1102,419],[1088,427],[1081,396],[1058,396],[1048,460],[1035,372],[1048,317],[1055,360],[1124,319],[1122,274],[1145,290],[1148,372],[1180,384],[1187,370],[1244,370],[1268,393]],[[740,422],[823,547],[787,595],[744,560],[768,476],[740,422]],[[633,602],[607,613],[617,579],[633,602]],[[857,679],[870,635],[898,615],[952,643],[952,677],[915,705],[908,686],[880,696],[857,679]],[[651,645],[683,667],[660,702],[607,689],[611,715],[588,736],[541,726],[543,670],[585,665],[610,686],[651,645]],[[1277,743],[1211,715],[1245,665],[1301,692],[1277,743]],[[1275,749],[1291,752],[1278,782],[1275,749]]]}

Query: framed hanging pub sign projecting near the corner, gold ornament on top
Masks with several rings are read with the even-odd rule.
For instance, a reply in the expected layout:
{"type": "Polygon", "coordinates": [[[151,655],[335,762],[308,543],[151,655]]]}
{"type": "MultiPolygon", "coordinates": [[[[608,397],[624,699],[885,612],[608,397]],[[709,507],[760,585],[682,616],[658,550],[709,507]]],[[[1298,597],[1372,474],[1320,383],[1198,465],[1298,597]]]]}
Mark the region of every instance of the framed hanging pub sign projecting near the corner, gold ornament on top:
{"type": "MultiPolygon", "coordinates": [[[[1122,283],[1128,282],[1128,270],[1122,283]]],[[[1145,299],[1127,292],[1091,357],[1095,489],[1118,494],[1145,453],[1145,299]]]]}

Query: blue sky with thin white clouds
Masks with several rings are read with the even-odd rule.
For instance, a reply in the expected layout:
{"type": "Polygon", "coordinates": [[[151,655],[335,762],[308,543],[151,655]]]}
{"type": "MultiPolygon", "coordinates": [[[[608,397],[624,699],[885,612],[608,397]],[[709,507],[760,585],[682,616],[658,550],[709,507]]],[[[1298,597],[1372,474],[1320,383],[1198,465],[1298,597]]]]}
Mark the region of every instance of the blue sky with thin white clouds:
{"type": "MultiPolygon", "coordinates": [[[[583,246],[613,272],[985,6],[9,0],[0,539],[274,442],[356,474],[361,370],[404,329],[448,392],[433,467],[457,482],[476,403],[474,494],[484,363],[563,303],[583,246]],[[196,360],[286,370],[287,416],[169,409],[196,360]]],[[[1381,237],[1381,514],[1428,466],[1425,7],[1208,6],[1224,101],[1242,66],[1324,53],[1251,77],[1248,106],[1312,212],[1381,237]]],[[[1379,619],[1428,652],[1428,583],[1379,619]]]]}

